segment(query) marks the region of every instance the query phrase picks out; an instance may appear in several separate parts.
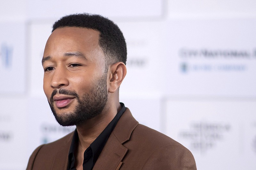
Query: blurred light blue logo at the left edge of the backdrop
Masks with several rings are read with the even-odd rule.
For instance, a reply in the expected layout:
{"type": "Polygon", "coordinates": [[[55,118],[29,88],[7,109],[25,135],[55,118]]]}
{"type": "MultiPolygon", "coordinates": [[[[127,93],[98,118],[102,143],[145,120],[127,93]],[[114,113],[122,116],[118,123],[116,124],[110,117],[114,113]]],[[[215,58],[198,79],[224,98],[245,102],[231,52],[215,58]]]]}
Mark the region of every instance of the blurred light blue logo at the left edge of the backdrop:
{"type": "Polygon", "coordinates": [[[5,68],[9,68],[11,67],[11,60],[12,46],[7,45],[6,43],[2,43],[0,48],[0,63],[2,63],[5,68]]]}

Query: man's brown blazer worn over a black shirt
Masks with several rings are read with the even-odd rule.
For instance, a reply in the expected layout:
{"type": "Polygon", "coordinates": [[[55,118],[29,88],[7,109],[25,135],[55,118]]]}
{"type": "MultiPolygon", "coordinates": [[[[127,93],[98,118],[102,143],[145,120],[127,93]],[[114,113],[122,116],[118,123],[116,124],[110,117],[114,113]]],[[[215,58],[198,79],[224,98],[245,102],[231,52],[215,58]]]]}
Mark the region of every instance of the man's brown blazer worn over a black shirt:
{"type": "MultiPolygon", "coordinates": [[[[66,170],[74,132],[36,148],[27,170],[66,170]]],[[[195,170],[192,153],[164,134],[139,124],[128,108],[108,138],[93,170],[195,170]]]]}

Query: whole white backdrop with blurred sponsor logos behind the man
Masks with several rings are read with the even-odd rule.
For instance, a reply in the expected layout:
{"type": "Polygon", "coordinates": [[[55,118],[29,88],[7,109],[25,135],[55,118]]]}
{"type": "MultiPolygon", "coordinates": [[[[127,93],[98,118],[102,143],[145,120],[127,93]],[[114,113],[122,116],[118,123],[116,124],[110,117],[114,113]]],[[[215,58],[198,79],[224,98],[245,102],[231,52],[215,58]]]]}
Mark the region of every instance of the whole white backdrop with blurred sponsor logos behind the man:
{"type": "Polygon", "coordinates": [[[198,169],[256,169],[256,1],[9,0],[0,5],[0,170],[23,170],[61,127],[41,59],[61,16],[97,13],[127,41],[120,101],[186,146],[198,169]],[[18,159],[17,159],[18,158],[18,159]]]}

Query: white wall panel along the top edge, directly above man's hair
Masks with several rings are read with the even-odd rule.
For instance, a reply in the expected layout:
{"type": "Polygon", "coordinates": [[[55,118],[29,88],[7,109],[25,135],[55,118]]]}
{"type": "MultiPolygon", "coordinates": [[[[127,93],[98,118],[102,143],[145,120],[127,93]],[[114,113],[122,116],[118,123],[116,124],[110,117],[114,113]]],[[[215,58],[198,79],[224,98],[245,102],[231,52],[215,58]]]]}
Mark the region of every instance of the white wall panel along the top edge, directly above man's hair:
{"type": "Polygon", "coordinates": [[[161,17],[162,0],[29,0],[28,15],[31,19],[59,19],[70,13],[99,13],[108,17],[161,17]],[[41,9],[41,10],[38,10],[41,9]],[[131,12],[132,10],[132,12],[131,12]]]}

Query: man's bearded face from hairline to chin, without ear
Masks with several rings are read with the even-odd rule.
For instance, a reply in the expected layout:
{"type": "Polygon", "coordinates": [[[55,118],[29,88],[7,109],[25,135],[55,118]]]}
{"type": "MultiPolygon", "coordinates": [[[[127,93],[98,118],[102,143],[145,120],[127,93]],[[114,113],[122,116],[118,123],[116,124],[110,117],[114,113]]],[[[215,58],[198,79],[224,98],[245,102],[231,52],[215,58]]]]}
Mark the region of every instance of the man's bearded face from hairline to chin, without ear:
{"type": "Polygon", "coordinates": [[[46,42],[44,93],[62,126],[81,124],[106,105],[107,74],[99,34],[87,28],[57,28],[46,42]]]}

